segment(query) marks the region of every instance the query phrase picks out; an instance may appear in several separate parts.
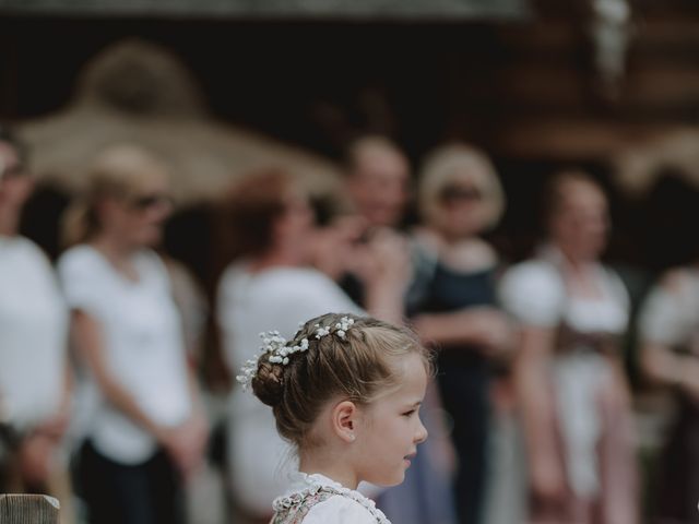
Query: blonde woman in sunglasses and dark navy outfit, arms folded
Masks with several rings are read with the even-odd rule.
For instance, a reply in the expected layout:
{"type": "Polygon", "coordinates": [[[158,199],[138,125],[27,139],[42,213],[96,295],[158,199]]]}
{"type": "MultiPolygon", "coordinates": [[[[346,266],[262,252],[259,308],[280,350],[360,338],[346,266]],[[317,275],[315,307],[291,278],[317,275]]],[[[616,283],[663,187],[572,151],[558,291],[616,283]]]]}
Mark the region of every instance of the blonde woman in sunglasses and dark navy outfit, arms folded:
{"type": "Polygon", "coordinates": [[[482,522],[493,362],[510,344],[496,307],[498,257],[481,235],[497,224],[505,196],[478,150],[447,145],[424,164],[418,181],[423,225],[414,233],[416,278],[408,294],[415,329],[440,347],[438,384],[453,420],[460,522],[482,522]]]}

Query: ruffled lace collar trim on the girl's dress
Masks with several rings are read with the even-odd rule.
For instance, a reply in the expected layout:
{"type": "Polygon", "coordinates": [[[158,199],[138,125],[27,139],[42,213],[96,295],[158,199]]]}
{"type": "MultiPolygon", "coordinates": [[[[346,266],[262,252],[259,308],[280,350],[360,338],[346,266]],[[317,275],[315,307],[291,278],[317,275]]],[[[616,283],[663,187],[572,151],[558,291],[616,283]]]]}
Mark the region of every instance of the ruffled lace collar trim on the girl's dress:
{"type": "Polygon", "coordinates": [[[295,491],[274,500],[274,517],[270,524],[301,524],[308,512],[320,502],[324,502],[331,497],[345,497],[363,505],[377,524],[391,524],[383,512],[379,510],[372,500],[367,499],[358,491],[343,487],[337,483],[332,486],[321,484],[313,475],[301,474],[307,488],[295,491]]]}

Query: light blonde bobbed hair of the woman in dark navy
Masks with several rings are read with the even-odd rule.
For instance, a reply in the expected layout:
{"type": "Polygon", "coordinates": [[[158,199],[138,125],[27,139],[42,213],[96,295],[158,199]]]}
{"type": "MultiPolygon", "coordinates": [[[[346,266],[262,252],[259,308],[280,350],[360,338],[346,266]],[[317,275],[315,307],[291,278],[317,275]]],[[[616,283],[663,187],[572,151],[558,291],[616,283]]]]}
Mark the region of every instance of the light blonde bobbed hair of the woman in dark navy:
{"type": "Polygon", "coordinates": [[[427,223],[435,223],[441,213],[439,193],[457,180],[469,180],[483,195],[482,227],[494,227],[505,211],[506,199],[489,158],[479,150],[465,144],[450,144],[433,151],[419,172],[417,203],[427,223]]]}

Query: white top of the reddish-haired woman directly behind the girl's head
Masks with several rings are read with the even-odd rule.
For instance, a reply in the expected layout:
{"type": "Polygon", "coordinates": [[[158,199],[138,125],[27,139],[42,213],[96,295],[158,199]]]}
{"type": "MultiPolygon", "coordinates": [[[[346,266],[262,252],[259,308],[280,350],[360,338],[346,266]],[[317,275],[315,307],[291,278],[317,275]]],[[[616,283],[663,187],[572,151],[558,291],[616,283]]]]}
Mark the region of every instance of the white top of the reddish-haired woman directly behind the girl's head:
{"type": "MultiPolygon", "coordinates": [[[[276,330],[291,338],[299,322],[313,317],[363,314],[333,281],[316,270],[274,267],[250,273],[245,263],[226,270],[216,306],[225,356],[234,374],[257,355],[261,332],[276,330]]],[[[239,388],[230,395],[228,426],[236,497],[249,511],[266,515],[296,469],[292,448],[276,432],[272,408],[239,388]]]]}

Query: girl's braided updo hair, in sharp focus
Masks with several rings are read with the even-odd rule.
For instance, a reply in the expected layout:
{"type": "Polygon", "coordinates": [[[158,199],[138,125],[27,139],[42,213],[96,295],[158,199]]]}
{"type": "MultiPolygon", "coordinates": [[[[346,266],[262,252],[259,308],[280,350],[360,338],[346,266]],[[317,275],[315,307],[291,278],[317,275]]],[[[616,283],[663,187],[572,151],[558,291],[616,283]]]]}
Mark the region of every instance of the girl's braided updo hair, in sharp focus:
{"type": "Polygon", "coordinates": [[[327,313],[306,322],[289,345],[304,338],[308,350],[286,365],[261,357],[252,379],[254,394],[272,406],[280,434],[299,448],[311,443],[313,422],[329,400],[366,405],[395,385],[400,374],[391,360],[417,354],[431,373],[430,355],[411,331],[369,317],[327,313]],[[354,323],[344,337],[313,336],[318,326],[334,326],[345,318],[354,323]]]}

